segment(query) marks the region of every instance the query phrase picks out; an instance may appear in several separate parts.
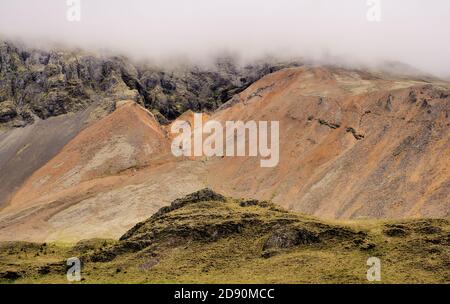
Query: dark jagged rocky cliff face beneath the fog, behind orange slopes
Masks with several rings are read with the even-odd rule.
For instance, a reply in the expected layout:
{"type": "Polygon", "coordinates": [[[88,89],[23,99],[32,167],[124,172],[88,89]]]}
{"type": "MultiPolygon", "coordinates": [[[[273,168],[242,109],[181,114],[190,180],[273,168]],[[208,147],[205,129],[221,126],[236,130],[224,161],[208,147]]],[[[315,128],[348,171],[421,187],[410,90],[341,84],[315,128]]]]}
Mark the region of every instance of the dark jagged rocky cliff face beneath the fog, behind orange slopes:
{"type": "Polygon", "coordinates": [[[215,66],[163,70],[125,57],[82,51],[44,51],[0,42],[0,125],[21,127],[36,118],[77,112],[90,104],[131,99],[160,122],[186,110],[214,110],[262,76],[292,64],[230,58],[215,66]]]}

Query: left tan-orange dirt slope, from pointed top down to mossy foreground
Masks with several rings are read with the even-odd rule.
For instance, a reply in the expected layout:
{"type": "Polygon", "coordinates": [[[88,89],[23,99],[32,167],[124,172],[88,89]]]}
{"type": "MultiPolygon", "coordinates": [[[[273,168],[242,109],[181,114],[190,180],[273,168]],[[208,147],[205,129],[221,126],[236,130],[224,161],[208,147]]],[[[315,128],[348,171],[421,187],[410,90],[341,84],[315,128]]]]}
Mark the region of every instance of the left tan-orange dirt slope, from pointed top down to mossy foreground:
{"type": "Polygon", "coordinates": [[[119,103],[15,193],[0,215],[0,238],[117,237],[184,191],[202,186],[199,169],[174,168],[168,144],[151,113],[134,102],[119,103]],[[171,188],[176,185],[185,190],[171,188]]]}

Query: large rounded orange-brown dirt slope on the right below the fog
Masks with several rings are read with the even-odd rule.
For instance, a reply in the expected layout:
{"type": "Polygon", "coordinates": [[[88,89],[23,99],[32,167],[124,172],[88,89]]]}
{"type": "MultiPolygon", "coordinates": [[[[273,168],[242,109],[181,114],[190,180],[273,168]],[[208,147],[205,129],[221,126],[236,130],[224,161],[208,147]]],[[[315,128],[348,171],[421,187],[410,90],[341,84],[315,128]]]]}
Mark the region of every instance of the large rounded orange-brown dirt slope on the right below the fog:
{"type": "Polygon", "coordinates": [[[448,88],[304,67],[271,74],[232,103],[212,118],[280,121],[280,163],[212,161],[220,191],[326,218],[450,213],[448,88]]]}

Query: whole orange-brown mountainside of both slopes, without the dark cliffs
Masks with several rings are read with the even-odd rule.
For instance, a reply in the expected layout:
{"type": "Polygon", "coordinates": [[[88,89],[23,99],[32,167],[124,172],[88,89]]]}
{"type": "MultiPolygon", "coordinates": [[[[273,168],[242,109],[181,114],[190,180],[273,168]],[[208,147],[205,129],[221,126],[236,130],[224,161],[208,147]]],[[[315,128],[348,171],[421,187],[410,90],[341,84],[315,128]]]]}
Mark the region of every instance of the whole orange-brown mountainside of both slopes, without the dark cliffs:
{"type": "MultiPolygon", "coordinates": [[[[170,125],[133,101],[117,101],[111,114],[88,122],[50,160],[44,155],[37,161],[42,166],[10,190],[0,212],[0,238],[117,238],[175,198],[204,187],[321,218],[445,218],[449,96],[445,82],[333,67],[269,74],[207,119],[280,121],[280,162],[274,168],[261,168],[256,157],[175,158],[170,125]]],[[[181,118],[192,121],[192,115],[181,118]]],[[[20,130],[33,132],[35,125],[20,130]]],[[[2,147],[11,146],[8,138],[16,133],[6,131],[2,147]]],[[[6,152],[20,169],[27,149],[16,144],[6,152]]],[[[20,180],[24,170],[2,176],[20,180]]]]}

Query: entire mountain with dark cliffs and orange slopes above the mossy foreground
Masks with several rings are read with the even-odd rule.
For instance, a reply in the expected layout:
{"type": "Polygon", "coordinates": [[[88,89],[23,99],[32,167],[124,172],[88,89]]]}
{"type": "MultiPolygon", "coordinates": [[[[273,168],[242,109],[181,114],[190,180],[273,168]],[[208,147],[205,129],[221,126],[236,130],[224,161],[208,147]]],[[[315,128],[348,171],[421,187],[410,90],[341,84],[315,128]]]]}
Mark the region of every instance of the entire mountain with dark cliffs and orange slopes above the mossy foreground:
{"type": "Polygon", "coordinates": [[[148,99],[165,81],[144,85],[145,65],[81,51],[0,49],[0,96],[8,98],[0,105],[32,118],[1,112],[9,114],[0,128],[0,240],[117,239],[205,187],[322,219],[450,214],[447,82],[309,64],[238,69],[222,61],[215,72],[170,74],[177,85],[165,106],[177,110],[165,111],[148,99]],[[57,86],[49,85],[53,66],[57,86]],[[74,79],[88,95],[71,95],[74,79]],[[214,99],[217,90],[230,98],[214,99]],[[69,97],[58,107],[45,98],[52,92],[69,97]],[[198,106],[188,93],[215,101],[198,106]],[[259,157],[174,157],[173,118],[192,125],[194,111],[205,109],[205,122],[279,121],[278,165],[262,168],[259,157]]]}

